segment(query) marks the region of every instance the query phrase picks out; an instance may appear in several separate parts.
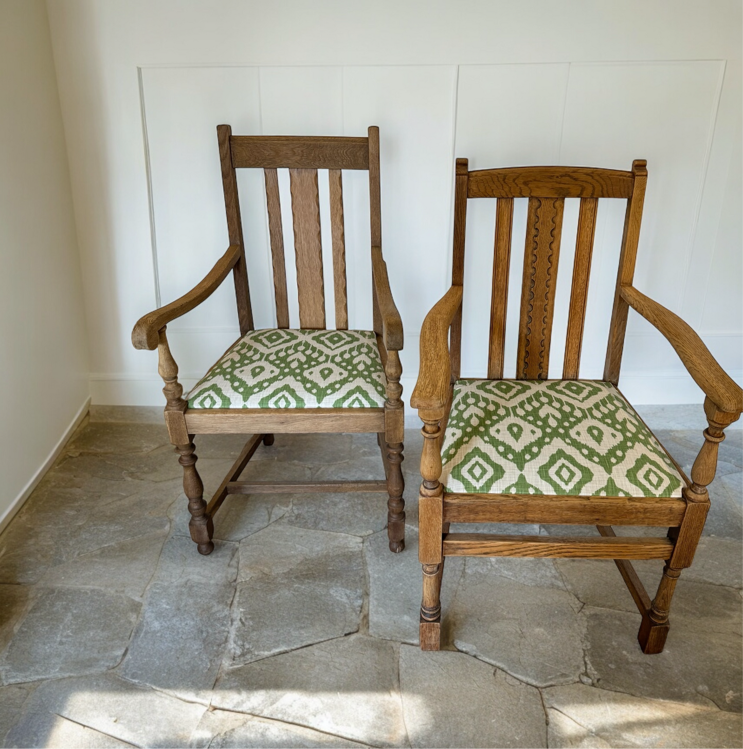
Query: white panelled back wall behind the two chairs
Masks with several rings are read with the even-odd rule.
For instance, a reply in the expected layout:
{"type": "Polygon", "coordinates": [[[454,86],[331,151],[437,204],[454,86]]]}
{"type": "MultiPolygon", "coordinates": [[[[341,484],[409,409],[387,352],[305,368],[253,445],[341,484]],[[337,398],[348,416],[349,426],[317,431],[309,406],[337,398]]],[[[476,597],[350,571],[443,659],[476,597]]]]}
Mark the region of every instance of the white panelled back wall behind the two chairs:
{"type": "MultiPolygon", "coordinates": [[[[681,314],[743,382],[743,6],[736,1],[49,0],[70,154],[94,402],[160,404],[133,322],[226,248],[214,127],[382,136],[382,231],[406,328],[448,286],[454,157],[472,168],[649,162],[636,285],[681,314]]],[[[322,184],[322,183],[321,183],[322,184]]],[[[274,324],[259,175],[241,175],[256,324],[274,324]]],[[[349,179],[346,212],[363,203],[349,179]]],[[[284,201],[286,204],[286,200],[284,201]]],[[[581,374],[601,376],[623,207],[600,209],[581,374]]],[[[514,224],[523,231],[525,213],[514,224]]],[[[484,373],[493,204],[469,212],[463,374],[484,373]]],[[[566,208],[553,369],[567,322],[566,208]]],[[[351,324],[370,324],[368,229],[349,224],[351,324]]],[[[291,233],[286,238],[291,249],[291,233]]],[[[520,247],[514,239],[514,279],[520,247]]],[[[292,264],[287,263],[287,268],[292,264]]],[[[512,290],[516,284],[511,284],[512,290]]],[[[512,295],[510,309],[517,307],[512,295]]],[[[516,315],[507,351],[515,360],[516,315]]],[[[229,284],[169,326],[184,384],[237,335],[229,284]]],[[[620,386],[638,404],[701,393],[632,316],[620,386]]],[[[515,366],[515,364],[514,364],[515,366]]]]}

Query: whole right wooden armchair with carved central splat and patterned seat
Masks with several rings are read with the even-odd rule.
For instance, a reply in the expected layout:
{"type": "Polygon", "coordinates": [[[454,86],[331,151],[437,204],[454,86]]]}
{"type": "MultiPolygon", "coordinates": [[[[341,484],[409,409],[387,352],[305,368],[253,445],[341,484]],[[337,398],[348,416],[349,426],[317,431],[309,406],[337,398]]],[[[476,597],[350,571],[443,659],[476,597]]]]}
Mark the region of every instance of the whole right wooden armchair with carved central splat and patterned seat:
{"type": "Polygon", "coordinates": [[[451,288],[421,330],[421,375],[411,402],[424,421],[421,458],[421,648],[439,649],[444,558],[613,559],[642,615],[643,652],[663,650],[676,580],[691,565],[715,477],[723,430],[743,390],[699,336],[632,286],[646,163],[631,172],[562,166],[469,172],[457,160],[451,288]],[[460,380],[468,198],[498,198],[487,380],[460,380]],[[517,377],[503,379],[514,198],[529,198],[517,377]],[[562,380],[547,380],[565,198],[580,198],[562,380]],[[598,198],[626,198],[624,236],[604,379],[578,380],[598,198]],[[628,309],[670,341],[706,393],[709,428],[691,481],[617,389],[628,309]],[[451,341],[449,339],[451,330],[451,341]],[[449,533],[450,523],[595,524],[598,536],[449,533]],[[667,527],[667,535],[616,536],[612,524],[667,527]],[[651,601],[629,560],[665,560],[651,601]]]}

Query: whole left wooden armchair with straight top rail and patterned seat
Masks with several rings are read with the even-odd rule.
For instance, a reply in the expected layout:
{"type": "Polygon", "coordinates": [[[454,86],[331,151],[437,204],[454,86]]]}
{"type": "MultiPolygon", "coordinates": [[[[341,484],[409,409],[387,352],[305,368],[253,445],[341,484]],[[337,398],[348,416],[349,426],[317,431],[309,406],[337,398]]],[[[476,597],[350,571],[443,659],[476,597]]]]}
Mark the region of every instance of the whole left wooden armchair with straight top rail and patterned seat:
{"type": "Polygon", "coordinates": [[[212,518],[228,494],[367,491],[389,495],[391,551],[405,545],[403,502],[403,401],[400,357],[403,326],[382,259],[379,129],[367,138],[233,136],[217,127],[229,230],[229,248],[199,285],[150,312],[132,333],[135,348],[157,348],[163,377],[165,422],[183,466],[191,538],[201,554],[214,549],[212,518]],[[274,269],[277,328],[253,330],[250,291],[235,169],[265,172],[268,227],[274,269]],[[289,169],[297,264],[299,324],[289,330],[277,169],[289,169]],[[325,320],[317,170],[328,169],[335,298],[335,330],[325,320]],[[343,169],[369,172],[373,331],[348,330],[343,169]],[[166,325],[202,303],[232,270],[240,338],[187,398],[178,383],[166,325]],[[281,432],[376,432],[386,479],[373,481],[262,482],[238,478],[260,443],[281,432]],[[195,434],[244,433],[250,438],[207,504],[196,471],[195,434]]]}

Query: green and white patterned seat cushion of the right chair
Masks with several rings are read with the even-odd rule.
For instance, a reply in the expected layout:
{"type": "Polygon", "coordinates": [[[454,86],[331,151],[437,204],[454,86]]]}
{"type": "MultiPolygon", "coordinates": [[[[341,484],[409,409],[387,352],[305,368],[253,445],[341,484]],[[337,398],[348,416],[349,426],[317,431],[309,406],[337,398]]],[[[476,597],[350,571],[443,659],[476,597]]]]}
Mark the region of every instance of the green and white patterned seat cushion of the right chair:
{"type": "Polygon", "coordinates": [[[459,380],[442,445],[445,491],[680,497],[682,477],[610,383],[459,380]]]}

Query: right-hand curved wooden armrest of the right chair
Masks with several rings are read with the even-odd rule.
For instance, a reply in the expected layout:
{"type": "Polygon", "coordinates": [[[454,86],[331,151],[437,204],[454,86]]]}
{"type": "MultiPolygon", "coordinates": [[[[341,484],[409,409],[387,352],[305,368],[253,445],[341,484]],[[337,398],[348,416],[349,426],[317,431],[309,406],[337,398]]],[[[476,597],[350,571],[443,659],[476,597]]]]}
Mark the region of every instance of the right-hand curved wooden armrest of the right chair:
{"type": "Polygon", "coordinates": [[[646,297],[634,286],[622,286],[620,293],[632,309],[640,312],[643,318],[663,333],[694,382],[720,410],[727,413],[740,413],[743,410],[743,389],[727,375],[702,339],[679,315],[646,297]]]}

